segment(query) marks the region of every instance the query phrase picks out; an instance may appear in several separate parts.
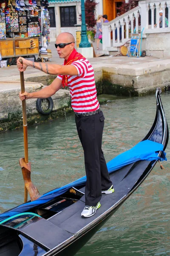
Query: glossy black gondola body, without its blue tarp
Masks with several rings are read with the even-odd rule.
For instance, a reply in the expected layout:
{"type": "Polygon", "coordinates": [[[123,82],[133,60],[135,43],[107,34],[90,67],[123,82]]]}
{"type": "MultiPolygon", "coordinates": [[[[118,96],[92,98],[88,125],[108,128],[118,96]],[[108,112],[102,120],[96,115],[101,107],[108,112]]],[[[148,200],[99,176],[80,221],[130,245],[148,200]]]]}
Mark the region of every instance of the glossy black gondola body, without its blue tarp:
{"type": "MultiPolygon", "coordinates": [[[[160,143],[165,150],[169,132],[158,89],[156,103],[155,121],[142,141],[160,143]]],[[[162,151],[157,154],[160,157],[162,151]]],[[[84,185],[71,187],[47,203],[32,207],[32,216],[11,218],[0,225],[0,256],[75,255],[140,186],[156,163],[157,160],[137,160],[112,172],[115,192],[102,195],[102,207],[91,218],[80,217],[85,205],[84,185]],[[42,218],[34,215],[37,211],[42,212],[42,218]]]]}

